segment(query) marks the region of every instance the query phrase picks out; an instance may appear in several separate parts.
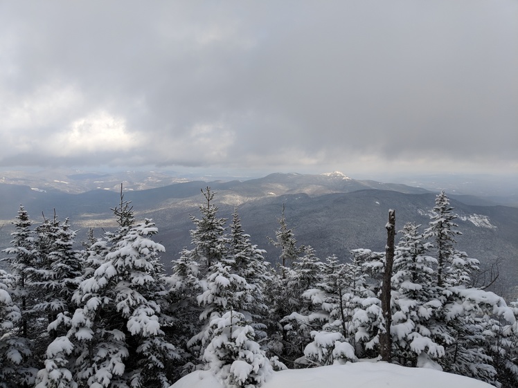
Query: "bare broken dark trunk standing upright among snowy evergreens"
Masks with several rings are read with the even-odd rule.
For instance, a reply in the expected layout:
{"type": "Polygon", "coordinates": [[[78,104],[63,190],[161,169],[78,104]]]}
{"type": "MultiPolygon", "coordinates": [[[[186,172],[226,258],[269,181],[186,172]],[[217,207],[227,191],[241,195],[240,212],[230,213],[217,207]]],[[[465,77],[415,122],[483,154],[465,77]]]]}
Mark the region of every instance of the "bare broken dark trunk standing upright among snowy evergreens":
{"type": "Polygon", "coordinates": [[[386,247],[385,247],[385,272],[382,283],[382,312],[384,320],[384,330],[379,334],[379,355],[382,360],[391,362],[392,358],[392,337],[391,337],[391,277],[394,264],[394,240],[395,240],[395,210],[388,210],[388,222],[386,228],[386,247]]]}

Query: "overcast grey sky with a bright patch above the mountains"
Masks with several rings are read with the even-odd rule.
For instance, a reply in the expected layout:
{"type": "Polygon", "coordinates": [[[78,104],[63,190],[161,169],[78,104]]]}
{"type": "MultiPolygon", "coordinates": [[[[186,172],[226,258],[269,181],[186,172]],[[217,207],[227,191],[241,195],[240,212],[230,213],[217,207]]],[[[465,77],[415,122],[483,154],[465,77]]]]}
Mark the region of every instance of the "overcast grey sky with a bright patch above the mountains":
{"type": "Polygon", "coordinates": [[[0,167],[518,171],[518,1],[1,1],[0,167]]]}

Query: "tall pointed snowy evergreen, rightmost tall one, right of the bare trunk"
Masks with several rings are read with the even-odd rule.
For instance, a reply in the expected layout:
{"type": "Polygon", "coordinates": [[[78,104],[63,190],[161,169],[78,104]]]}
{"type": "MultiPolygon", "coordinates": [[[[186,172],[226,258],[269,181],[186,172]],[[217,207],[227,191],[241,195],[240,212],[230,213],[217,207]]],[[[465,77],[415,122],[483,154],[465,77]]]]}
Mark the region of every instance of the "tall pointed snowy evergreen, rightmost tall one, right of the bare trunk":
{"type": "Polygon", "coordinates": [[[505,315],[506,320],[514,320],[514,315],[500,297],[467,287],[479,261],[456,249],[454,236],[461,232],[456,230],[458,225],[452,210],[449,198],[444,191],[440,192],[429,228],[425,230],[436,250],[435,297],[441,303],[431,338],[445,349],[445,355],[438,360],[445,371],[498,385],[497,369],[490,351],[485,349],[485,342],[492,336],[488,330],[492,326],[489,314],[505,315]]]}

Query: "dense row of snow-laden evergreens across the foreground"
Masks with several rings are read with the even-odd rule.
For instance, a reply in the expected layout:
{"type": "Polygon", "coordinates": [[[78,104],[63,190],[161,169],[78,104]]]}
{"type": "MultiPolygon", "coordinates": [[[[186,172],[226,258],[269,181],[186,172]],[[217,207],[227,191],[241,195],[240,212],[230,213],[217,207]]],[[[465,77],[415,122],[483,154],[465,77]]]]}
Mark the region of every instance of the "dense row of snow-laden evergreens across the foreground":
{"type": "Polygon", "coordinates": [[[456,249],[444,192],[427,228],[398,232],[390,288],[385,252],[322,261],[298,245],[284,210],[273,268],[238,210],[227,227],[215,193],[202,194],[172,275],[154,223],[136,221],[122,192],[118,228],[90,230],[81,250],[68,219],[33,228],[20,206],[10,272],[0,271],[0,387],[168,387],[202,368],[228,387],[257,387],[286,367],[379,358],[384,333],[391,362],[518,384],[518,305],[472,286],[478,261],[456,249]]]}

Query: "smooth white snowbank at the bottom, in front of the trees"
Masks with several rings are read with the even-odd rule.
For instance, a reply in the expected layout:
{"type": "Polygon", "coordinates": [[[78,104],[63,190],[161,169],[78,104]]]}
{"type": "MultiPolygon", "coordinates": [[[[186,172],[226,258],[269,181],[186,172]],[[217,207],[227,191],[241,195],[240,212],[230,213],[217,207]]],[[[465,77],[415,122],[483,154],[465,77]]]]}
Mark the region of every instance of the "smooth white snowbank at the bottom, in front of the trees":
{"type": "MultiPolygon", "coordinates": [[[[355,362],[274,372],[261,388],[494,388],[479,380],[433,369],[384,362],[355,362]]],[[[210,371],[195,371],[171,388],[225,388],[210,371]]]]}

